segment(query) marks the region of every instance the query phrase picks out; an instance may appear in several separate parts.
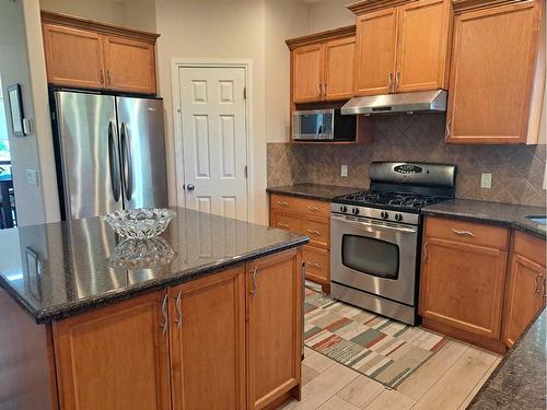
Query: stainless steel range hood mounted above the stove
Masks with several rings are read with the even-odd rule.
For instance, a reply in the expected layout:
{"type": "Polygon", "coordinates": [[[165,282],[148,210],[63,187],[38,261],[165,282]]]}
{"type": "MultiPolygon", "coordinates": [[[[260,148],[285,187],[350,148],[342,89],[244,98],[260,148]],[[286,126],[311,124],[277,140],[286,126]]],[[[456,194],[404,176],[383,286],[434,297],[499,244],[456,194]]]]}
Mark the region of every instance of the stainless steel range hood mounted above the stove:
{"type": "Polygon", "coordinates": [[[446,110],[446,95],[444,90],[434,90],[353,97],[341,108],[341,114],[441,113],[446,110]]]}

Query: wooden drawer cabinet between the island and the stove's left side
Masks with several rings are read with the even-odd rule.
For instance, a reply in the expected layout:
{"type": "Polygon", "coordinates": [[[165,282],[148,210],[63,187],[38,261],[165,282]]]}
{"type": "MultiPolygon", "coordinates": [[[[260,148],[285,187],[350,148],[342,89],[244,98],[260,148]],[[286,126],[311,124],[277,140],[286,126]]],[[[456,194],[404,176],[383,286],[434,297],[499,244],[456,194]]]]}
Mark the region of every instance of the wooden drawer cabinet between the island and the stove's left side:
{"type": "Polygon", "coordinates": [[[270,226],[310,237],[304,246],[306,279],[330,289],[330,202],[270,195],[270,226]]]}

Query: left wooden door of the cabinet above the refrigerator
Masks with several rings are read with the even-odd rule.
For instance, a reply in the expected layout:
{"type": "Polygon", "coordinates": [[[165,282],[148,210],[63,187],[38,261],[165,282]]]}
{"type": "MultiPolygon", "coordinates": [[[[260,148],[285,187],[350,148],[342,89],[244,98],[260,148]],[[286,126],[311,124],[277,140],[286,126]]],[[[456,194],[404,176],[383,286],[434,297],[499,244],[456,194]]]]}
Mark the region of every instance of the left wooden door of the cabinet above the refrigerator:
{"type": "Polygon", "coordinates": [[[88,89],[104,86],[102,36],[85,30],[43,24],[47,81],[88,89]]]}

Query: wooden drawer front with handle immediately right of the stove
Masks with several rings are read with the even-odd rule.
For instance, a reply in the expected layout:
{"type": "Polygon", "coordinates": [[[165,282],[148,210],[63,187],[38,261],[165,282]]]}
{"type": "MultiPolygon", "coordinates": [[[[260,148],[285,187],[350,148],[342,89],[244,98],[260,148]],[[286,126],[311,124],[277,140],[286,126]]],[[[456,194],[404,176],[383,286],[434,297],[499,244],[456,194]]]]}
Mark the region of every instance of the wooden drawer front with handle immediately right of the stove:
{"type": "Polygon", "coordinates": [[[431,216],[426,220],[426,236],[497,249],[508,249],[509,243],[505,227],[431,216]]]}

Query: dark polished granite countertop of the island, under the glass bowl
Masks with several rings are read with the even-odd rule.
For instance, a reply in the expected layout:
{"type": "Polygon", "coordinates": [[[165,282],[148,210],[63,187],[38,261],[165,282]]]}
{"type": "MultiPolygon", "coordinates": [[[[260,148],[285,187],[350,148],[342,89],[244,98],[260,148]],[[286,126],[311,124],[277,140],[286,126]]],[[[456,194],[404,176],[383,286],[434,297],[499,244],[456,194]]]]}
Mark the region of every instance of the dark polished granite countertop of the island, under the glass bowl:
{"type": "Polygon", "coordinates": [[[120,239],[102,218],[2,230],[0,286],[44,324],[309,242],[282,230],[173,209],[176,218],[161,237],[176,257],[153,268],[112,267],[107,258],[120,239]]]}

